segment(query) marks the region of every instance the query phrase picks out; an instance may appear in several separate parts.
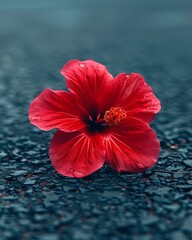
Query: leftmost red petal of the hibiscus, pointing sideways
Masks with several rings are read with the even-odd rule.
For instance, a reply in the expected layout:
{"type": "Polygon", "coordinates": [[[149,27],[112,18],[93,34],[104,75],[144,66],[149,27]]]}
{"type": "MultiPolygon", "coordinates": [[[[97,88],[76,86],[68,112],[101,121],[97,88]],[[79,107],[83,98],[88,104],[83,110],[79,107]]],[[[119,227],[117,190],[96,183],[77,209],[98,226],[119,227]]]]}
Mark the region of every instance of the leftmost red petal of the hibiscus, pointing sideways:
{"type": "Polygon", "coordinates": [[[30,105],[29,119],[38,128],[48,131],[58,128],[66,132],[85,127],[75,97],[65,91],[45,89],[30,105]]]}

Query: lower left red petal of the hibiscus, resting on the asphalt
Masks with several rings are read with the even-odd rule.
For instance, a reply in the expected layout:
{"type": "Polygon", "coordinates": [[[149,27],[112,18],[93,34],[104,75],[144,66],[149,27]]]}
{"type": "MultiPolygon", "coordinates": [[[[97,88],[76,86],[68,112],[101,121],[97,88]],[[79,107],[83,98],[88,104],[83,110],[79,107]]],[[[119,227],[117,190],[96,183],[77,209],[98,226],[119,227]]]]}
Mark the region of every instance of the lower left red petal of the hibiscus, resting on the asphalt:
{"type": "Polygon", "coordinates": [[[104,148],[99,136],[57,131],[49,155],[55,169],[68,177],[85,177],[104,164],[104,148]]]}

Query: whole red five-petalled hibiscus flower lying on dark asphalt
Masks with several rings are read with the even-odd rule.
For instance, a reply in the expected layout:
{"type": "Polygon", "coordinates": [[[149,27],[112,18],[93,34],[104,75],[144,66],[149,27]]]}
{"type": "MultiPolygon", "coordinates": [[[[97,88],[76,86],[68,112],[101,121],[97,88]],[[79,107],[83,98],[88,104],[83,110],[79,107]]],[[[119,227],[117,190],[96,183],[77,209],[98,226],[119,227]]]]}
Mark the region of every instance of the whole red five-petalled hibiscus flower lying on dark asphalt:
{"type": "Polygon", "coordinates": [[[149,123],[160,102],[140,74],[113,78],[93,60],[69,61],[61,74],[69,91],[45,89],[29,108],[32,124],[58,129],[49,155],[60,174],[85,177],[104,162],[139,173],[156,163],[160,145],[149,123]]]}

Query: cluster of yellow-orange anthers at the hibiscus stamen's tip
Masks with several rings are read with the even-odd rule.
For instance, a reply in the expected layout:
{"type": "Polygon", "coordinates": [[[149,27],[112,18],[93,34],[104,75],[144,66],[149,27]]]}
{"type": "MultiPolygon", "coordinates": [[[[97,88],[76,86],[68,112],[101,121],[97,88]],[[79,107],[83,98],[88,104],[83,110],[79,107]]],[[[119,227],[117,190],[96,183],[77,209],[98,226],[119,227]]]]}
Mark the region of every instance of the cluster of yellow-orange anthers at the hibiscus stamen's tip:
{"type": "Polygon", "coordinates": [[[105,112],[104,120],[108,125],[117,125],[126,116],[126,111],[121,107],[112,107],[105,112]]]}

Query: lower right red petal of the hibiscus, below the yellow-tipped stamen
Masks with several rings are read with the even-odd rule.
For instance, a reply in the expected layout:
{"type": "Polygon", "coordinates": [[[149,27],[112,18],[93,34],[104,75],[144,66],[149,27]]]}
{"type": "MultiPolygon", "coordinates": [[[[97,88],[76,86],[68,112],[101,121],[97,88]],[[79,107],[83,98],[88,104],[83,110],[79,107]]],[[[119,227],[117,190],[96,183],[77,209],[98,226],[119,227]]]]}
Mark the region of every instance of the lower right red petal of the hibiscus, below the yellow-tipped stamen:
{"type": "Polygon", "coordinates": [[[106,162],[117,171],[139,173],[152,167],[160,144],[154,131],[139,119],[126,118],[105,138],[106,162]]]}

